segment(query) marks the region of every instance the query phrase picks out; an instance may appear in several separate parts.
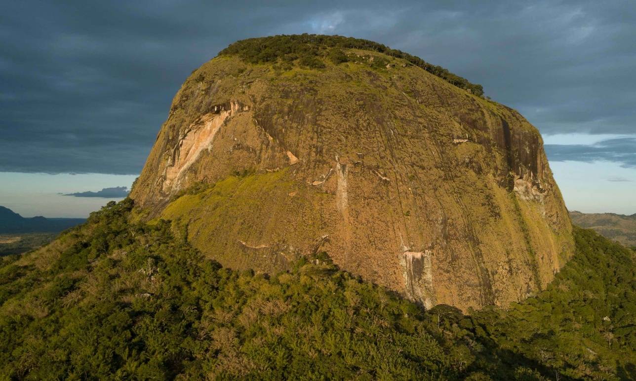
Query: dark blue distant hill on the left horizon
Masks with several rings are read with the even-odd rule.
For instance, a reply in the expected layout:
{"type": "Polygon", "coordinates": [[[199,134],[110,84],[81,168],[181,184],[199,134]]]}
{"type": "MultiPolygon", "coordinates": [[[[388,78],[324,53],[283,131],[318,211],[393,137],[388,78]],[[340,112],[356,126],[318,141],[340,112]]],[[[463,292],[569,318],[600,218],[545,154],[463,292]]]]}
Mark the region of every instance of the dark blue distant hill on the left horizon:
{"type": "Polygon", "coordinates": [[[15,211],[0,206],[1,233],[61,232],[85,222],[85,218],[24,218],[15,211]]]}

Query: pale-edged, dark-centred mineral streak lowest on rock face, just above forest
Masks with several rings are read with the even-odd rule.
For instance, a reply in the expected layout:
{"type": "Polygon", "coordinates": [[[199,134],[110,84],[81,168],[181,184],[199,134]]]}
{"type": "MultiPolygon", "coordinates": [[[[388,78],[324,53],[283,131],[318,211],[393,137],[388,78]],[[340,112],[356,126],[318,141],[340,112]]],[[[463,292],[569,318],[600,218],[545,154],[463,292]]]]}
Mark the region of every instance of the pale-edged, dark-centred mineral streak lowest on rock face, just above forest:
{"type": "Polygon", "coordinates": [[[411,300],[421,302],[426,309],[435,305],[432,276],[432,251],[404,251],[401,264],[404,267],[404,287],[411,300]]]}

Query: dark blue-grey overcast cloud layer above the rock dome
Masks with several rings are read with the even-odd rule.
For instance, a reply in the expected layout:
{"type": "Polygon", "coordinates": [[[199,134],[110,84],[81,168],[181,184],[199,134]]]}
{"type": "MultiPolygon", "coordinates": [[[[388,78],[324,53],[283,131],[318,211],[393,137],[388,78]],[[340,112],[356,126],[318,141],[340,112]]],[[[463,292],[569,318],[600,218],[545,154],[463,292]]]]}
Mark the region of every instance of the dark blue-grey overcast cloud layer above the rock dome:
{"type": "Polygon", "coordinates": [[[237,39],[302,32],[442,65],[544,135],[611,135],[548,145],[553,161],[636,168],[633,0],[4,0],[0,171],[139,173],[191,70],[237,39]]]}

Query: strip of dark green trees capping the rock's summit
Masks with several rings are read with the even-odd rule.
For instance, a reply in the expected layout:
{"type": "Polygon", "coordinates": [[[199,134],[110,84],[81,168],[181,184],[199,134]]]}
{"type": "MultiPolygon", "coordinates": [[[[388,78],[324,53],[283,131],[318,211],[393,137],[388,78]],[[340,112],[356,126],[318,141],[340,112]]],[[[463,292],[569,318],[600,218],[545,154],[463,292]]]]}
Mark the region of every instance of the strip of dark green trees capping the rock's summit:
{"type": "MultiPolygon", "coordinates": [[[[298,60],[301,66],[320,69],[324,67],[323,59],[328,59],[334,64],[347,62],[349,58],[343,53],[342,49],[371,50],[391,57],[402,58],[411,65],[420,67],[448,83],[470,91],[475,95],[483,95],[481,84],[470,83],[466,78],[457,76],[449,72],[448,69],[429,64],[422,58],[404,53],[401,50],[391,49],[383,44],[354,37],[305,33],[251,38],[231,44],[221,50],[219,55],[239,55],[239,57],[251,64],[276,63],[279,61],[284,64],[298,60]]],[[[376,62],[375,64],[381,65],[382,62],[376,62]]]]}

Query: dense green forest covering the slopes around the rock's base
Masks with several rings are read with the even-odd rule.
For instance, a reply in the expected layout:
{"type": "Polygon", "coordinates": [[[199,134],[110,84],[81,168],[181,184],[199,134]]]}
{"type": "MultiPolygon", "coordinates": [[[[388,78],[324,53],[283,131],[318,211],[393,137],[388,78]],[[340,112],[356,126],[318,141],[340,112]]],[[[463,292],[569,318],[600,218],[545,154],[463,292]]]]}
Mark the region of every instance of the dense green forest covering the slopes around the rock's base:
{"type": "Polygon", "coordinates": [[[125,199],[0,259],[3,379],[630,379],[634,253],[575,229],[536,297],[423,311],[326,253],[280,274],[222,268],[125,199]]]}

